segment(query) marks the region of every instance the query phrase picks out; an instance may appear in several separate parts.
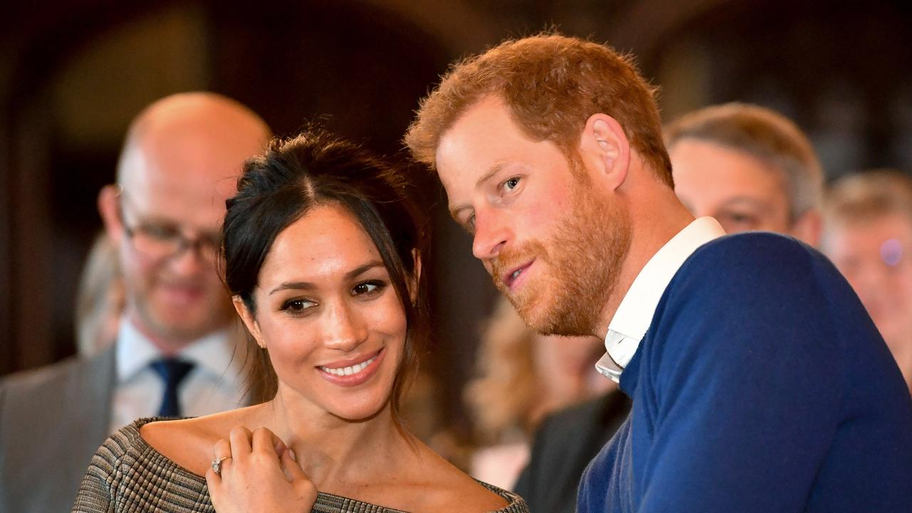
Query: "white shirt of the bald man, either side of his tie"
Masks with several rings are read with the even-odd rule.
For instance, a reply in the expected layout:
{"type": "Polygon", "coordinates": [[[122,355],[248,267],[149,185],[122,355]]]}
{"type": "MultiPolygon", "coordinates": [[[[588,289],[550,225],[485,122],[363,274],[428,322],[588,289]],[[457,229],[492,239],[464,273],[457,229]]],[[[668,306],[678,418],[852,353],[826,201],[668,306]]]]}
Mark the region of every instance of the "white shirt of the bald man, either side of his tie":
{"type": "MultiPolygon", "coordinates": [[[[245,352],[236,326],[194,340],[173,356],[194,367],[181,382],[181,414],[214,414],[244,405],[245,352]]],[[[117,338],[117,386],[111,401],[111,432],[140,417],[158,414],[164,382],[150,363],[161,351],[126,317],[120,319],[117,338]]]]}

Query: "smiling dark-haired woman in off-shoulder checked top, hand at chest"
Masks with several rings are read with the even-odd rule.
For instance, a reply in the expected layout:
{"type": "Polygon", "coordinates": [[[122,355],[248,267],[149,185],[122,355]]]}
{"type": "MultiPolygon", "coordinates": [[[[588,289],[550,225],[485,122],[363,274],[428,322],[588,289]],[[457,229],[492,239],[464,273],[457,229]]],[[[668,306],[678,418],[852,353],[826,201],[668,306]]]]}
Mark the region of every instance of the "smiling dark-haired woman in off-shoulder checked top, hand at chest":
{"type": "Polygon", "coordinates": [[[269,400],[124,427],[73,510],[527,511],[399,422],[428,325],[413,197],[399,170],[320,131],[247,162],[223,269],[269,400]]]}

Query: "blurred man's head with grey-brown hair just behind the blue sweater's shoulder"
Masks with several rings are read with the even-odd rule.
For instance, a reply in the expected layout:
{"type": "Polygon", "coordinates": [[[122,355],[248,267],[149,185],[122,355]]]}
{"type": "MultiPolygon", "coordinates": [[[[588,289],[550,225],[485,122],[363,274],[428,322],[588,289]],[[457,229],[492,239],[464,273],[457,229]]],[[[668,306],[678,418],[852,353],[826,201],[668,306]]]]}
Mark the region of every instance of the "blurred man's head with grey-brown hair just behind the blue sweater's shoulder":
{"type": "Polygon", "coordinates": [[[725,232],[763,230],[816,246],[824,176],[807,136],[769,109],[727,103],[665,129],[675,194],[725,232]]]}

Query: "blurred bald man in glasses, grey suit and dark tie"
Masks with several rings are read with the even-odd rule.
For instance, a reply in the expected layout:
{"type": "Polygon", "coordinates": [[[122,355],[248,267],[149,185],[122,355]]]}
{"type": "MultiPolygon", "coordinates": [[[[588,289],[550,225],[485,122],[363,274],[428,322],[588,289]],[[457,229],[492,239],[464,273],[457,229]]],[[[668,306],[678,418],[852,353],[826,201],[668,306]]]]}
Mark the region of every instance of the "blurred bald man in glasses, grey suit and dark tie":
{"type": "Polygon", "coordinates": [[[269,134],[211,93],[161,99],[132,122],[118,183],[98,194],[125,290],[117,340],[3,382],[0,511],[68,510],[98,445],[135,418],[244,402],[242,331],[215,255],[225,199],[269,134]]]}

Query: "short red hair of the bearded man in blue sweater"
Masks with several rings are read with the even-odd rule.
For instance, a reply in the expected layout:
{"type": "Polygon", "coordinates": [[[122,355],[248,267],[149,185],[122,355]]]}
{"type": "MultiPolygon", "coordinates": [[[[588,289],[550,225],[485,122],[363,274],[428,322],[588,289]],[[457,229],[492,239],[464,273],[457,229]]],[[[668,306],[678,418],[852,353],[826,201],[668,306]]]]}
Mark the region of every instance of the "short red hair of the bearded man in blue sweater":
{"type": "Polygon", "coordinates": [[[671,185],[655,92],[631,58],[604,45],[555,34],[507,40],[450,69],[421,101],[405,143],[416,160],[433,168],[443,134],[494,95],[526,135],[554,142],[570,159],[590,116],[615,118],[643,161],[671,185]]]}

